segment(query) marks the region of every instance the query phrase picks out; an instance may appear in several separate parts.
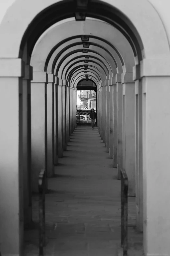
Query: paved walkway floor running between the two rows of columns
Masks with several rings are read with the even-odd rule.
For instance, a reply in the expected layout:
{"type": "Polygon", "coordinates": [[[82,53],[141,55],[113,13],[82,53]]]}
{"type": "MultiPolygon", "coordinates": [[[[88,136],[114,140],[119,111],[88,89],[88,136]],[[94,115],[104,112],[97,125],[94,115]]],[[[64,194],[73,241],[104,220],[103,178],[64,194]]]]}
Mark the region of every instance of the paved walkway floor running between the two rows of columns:
{"type": "MultiPolygon", "coordinates": [[[[46,195],[49,256],[120,256],[120,180],[97,128],[76,128],[46,195]]],[[[38,201],[33,219],[38,222],[38,201]]],[[[142,255],[135,225],[135,198],[129,200],[129,255],[142,255]]],[[[38,255],[38,231],[25,232],[26,256],[38,255]]]]}

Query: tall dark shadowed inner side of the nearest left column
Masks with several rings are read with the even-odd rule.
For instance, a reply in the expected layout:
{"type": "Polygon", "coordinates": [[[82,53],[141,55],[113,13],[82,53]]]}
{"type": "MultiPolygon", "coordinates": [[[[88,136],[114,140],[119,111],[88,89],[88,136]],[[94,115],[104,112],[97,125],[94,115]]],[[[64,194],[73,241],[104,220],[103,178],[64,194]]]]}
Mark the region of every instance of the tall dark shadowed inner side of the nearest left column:
{"type": "Polygon", "coordinates": [[[31,191],[31,80],[33,69],[25,65],[25,77],[22,87],[23,110],[23,201],[24,201],[24,226],[27,228],[32,223],[32,191],[31,191]]]}

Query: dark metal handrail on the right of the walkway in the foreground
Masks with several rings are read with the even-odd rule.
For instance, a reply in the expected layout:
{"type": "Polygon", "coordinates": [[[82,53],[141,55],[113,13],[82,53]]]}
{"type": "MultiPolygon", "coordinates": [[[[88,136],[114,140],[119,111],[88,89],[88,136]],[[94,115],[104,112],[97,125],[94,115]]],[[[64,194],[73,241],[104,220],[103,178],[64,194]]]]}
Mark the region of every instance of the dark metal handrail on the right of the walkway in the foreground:
{"type": "Polygon", "coordinates": [[[128,249],[128,177],[124,169],[121,174],[121,246],[123,256],[127,256],[128,249]]]}

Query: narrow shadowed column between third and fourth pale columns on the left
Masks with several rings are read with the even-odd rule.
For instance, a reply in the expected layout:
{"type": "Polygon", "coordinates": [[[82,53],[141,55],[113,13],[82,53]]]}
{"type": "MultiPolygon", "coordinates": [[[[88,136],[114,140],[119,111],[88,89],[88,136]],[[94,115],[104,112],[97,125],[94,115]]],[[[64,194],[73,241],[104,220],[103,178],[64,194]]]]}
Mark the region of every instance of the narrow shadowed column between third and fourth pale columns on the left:
{"type": "Polygon", "coordinates": [[[58,164],[58,77],[55,77],[54,84],[54,104],[53,104],[53,113],[54,113],[54,165],[58,164]]]}

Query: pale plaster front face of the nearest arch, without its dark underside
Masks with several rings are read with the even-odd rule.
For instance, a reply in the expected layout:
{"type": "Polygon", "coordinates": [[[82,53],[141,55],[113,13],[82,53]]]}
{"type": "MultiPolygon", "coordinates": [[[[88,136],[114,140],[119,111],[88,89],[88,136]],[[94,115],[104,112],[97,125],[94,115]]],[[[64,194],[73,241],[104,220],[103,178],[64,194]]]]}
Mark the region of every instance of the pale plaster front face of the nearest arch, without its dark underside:
{"type": "MultiPolygon", "coordinates": [[[[0,48],[1,57],[17,58],[19,44],[21,42],[23,33],[25,32],[25,28],[35,18],[37,13],[46,8],[48,4],[50,5],[59,1],[60,0],[11,0],[8,6],[10,6],[11,3],[16,4],[12,5],[6,16],[5,10],[7,9],[7,4],[4,7],[4,0],[3,2],[1,1],[0,9],[2,7],[4,10],[1,13],[2,16],[5,16],[2,26],[0,26],[0,33],[3,35],[1,45],[5,45],[5,49],[4,47],[0,48]],[[32,8],[32,6],[34,6],[34,8],[32,8]],[[23,11],[21,11],[21,9],[23,11]],[[13,26],[10,26],[10,23],[13,26]],[[15,40],[13,41],[13,47],[11,48],[10,39],[12,35],[14,36],[15,40]]],[[[147,0],[103,0],[103,2],[113,6],[115,5],[116,8],[120,9],[120,11],[122,11],[127,17],[130,18],[132,23],[134,23],[144,43],[145,55],[147,58],[153,59],[155,55],[157,55],[157,58],[167,58],[169,55],[169,45],[166,41],[166,34],[164,33],[163,26],[160,24],[157,15],[155,15],[155,12],[153,11],[153,8],[149,2],[147,3],[147,0]],[[157,29],[155,29],[155,24],[157,24],[157,29]]],[[[165,1],[165,3],[167,2],[168,0],[165,1]]],[[[167,6],[161,6],[161,8],[166,9],[167,6]]],[[[3,17],[1,17],[1,22],[2,18],[3,17]]],[[[167,24],[168,22],[169,21],[167,21],[167,24]]]]}

